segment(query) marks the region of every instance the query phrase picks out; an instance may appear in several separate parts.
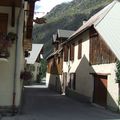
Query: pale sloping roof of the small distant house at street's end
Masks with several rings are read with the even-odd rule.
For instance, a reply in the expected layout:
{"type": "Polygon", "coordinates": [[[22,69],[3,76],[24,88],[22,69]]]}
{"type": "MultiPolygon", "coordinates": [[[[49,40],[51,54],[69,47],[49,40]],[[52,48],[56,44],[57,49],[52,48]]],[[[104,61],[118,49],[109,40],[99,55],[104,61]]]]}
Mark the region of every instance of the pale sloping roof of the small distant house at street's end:
{"type": "Polygon", "coordinates": [[[43,48],[43,44],[32,44],[32,51],[30,51],[30,56],[26,57],[27,64],[34,64],[40,51],[43,48]]]}

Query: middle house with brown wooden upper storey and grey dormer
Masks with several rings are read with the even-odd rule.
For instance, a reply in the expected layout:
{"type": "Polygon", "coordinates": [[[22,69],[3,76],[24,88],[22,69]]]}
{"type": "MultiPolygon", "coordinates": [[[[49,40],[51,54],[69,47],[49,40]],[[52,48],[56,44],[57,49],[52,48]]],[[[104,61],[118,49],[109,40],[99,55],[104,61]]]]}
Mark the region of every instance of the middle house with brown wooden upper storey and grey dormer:
{"type": "Polygon", "coordinates": [[[63,49],[61,44],[65,42],[74,31],[58,29],[53,35],[53,53],[47,57],[46,82],[49,88],[62,92],[62,69],[63,69],[63,49]]]}

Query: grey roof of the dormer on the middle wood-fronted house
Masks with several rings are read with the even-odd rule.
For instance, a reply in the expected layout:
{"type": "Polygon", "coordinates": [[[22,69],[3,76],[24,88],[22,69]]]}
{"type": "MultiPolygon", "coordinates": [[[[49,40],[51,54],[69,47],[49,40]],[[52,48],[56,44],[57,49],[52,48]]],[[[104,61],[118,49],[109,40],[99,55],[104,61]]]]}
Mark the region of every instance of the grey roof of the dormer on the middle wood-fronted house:
{"type": "Polygon", "coordinates": [[[69,38],[75,31],[58,29],[58,38],[69,38]]]}

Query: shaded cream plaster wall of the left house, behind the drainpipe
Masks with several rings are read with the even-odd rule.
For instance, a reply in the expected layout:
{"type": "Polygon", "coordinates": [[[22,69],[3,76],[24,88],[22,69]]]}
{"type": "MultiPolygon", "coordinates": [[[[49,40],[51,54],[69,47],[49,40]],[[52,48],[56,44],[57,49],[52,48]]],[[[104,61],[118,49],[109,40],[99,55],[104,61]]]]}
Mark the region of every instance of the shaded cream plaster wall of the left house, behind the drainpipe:
{"type": "MultiPolygon", "coordinates": [[[[15,22],[17,19],[19,9],[15,10],[15,22]]],[[[0,7],[1,13],[8,14],[8,32],[16,33],[16,23],[15,27],[11,27],[11,7],[0,7]]],[[[18,52],[18,70],[16,74],[16,105],[20,103],[20,93],[21,93],[21,82],[20,82],[20,71],[24,66],[24,57],[23,57],[23,11],[20,19],[19,25],[19,52],[18,52]]],[[[13,80],[14,80],[14,66],[15,66],[15,42],[12,44],[10,49],[10,57],[7,62],[0,60],[0,106],[11,106],[12,97],[13,97],[13,80]]]]}

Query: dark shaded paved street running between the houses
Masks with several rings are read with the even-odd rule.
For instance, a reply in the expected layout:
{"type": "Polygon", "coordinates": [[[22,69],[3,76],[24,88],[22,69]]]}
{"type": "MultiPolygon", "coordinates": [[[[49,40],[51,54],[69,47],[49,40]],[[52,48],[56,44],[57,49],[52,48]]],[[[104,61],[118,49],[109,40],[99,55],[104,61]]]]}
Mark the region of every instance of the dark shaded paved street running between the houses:
{"type": "Polygon", "coordinates": [[[25,88],[22,114],[2,120],[120,120],[120,114],[77,102],[47,88],[25,88]]]}

